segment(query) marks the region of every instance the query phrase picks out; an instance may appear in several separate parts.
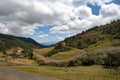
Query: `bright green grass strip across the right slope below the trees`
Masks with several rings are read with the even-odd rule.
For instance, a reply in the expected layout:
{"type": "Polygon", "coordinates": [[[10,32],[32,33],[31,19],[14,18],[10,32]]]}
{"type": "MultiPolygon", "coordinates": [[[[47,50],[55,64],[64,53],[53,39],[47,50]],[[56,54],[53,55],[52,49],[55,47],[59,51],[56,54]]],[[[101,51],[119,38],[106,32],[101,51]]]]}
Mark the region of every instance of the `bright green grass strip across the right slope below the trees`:
{"type": "Polygon", "coordinates": [[[120,40],[114,39],[114,40],[104,40],[104,41],[98,41],[96,44],[90,45],[89,47],[85,48],[86,51],[94,51],[96,49],[106,48],[111,46],[114,43],[119,42],[120,40]]]}

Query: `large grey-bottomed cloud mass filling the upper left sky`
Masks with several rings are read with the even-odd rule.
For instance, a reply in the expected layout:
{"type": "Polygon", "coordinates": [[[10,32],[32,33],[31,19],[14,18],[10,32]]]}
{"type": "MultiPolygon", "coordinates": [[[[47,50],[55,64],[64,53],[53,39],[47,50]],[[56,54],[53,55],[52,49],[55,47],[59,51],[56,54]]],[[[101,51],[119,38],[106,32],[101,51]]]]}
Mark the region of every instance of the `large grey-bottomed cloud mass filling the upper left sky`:
{"type": "Polygon", "coordinates": [[[62,24],[69,20],[71,11],[72,6],[64,4],[62,0],[1,0],[0,24],[5,27],[0,28],[8,30],[1,33],[34,34],[38,27],[35,24],[62,24]]]}

